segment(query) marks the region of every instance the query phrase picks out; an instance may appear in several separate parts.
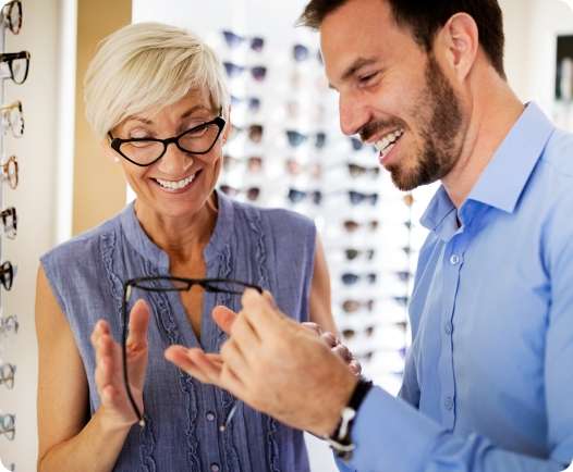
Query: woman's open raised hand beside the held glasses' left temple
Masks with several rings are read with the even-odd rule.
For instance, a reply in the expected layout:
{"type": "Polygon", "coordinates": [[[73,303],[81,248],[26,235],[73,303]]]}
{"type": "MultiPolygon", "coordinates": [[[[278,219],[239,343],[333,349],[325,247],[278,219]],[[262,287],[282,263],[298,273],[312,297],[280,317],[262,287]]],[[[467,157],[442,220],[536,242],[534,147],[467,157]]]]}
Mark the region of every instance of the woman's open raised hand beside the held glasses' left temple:
{"type": "MultiPolygon", "coordinates": [[[[147,369],[147,327],[149,307],[139,299],[130,312],[127,374],[135,403],[143,413],[143,387],[147,369]]],[[[129,427],[137,422],[123,383],[121,346],[111,336],[109,324],[99,320],[92,333],[96,352],[96,386],[101,401],[100,414],[109,427],[129,427]]]]}

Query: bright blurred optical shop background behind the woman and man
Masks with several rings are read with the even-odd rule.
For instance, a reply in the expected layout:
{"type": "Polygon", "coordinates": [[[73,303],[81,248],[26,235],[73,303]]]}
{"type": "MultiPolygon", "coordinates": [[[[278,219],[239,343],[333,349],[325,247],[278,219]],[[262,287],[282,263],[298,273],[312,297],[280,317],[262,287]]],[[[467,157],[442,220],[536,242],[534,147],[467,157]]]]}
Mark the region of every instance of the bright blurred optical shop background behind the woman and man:
{"type": "MultiPolygon", "coordinates": [[[[406,306],[425,237],[418,220],[436,187],[399,192],[379,169],[374,149],[341,134],[318,37],[294,27],[305,1],[20,4],[21,27],[9,21],[5,5],[0,32],[1,52],[22,52],[12,71],[0,64],[3,464],[36,470],[34,294],[39,256],[133,198],[120,169],[101,156],[82,99],[83,76],[98,41],[132,22],[190,28],[219,53],[234,128],[219,188],[243,201],[289,208],[315,220],[326,246],[341,335],[365,374],[395,394],[410,339],[406,306]]],[[[561,127],[573,126],[572,8],[563,0],[500,4],[510,84],[524,102],[535,100],[561,127]]],[[[12,11],[10,17],[16,16],[12,11]]],[[[308,447],[314,471],[334,470],[324,444],[309,436],[308,447]]]]}

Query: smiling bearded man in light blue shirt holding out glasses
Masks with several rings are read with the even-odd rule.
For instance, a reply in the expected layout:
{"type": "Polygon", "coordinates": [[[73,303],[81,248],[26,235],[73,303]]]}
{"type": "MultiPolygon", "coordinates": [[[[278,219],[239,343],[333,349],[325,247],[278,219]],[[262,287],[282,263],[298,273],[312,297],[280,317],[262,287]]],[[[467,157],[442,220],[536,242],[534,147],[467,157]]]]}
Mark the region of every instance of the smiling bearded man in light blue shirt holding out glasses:
{"type": "Polygon", "coordinates": [[[245,294],[236,320],[216,316],[230,331],[220,357],[167,357],[330,436],[359,471],[563,470],[573,138],[507,84],[497,0],[313,0],[302,20],[320,32],[342,131],[378,148],[399,188],[442,183],[422,220],[400,398],[357,381],[269,295],[245,294]]]}

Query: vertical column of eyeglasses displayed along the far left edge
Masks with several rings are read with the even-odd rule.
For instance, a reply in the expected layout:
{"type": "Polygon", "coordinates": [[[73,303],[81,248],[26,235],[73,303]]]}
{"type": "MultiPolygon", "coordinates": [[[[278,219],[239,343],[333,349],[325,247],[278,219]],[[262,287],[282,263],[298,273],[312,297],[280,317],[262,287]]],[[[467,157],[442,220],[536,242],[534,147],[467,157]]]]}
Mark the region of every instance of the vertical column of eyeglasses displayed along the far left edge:
{"type": "MultiPolygon", "coordinates": [[[[17,335],[17,315],[7,313],[5,297],[15,283],[16,264],[9,259],[5,238],[14,239],[17,232],[17,215],[14,207],[7,206],[7,195],[19,182],[17,158],[10,153],[7,137],[21,138],[24,134],[23,105],[20,100],[7,102],[7,87],[23,84],[28,75],[31,54],[28,51],[7,51],[7,36],[17,35],[22,27],[22,2],[2,2],[0,9],[0,440],[13,442],[16,436],[16,415],[4,411],[1,401],[5,396],[16,395],[17,369],[12,362],[15,353],[10,345],[17,335]]],[[[1,458],[4,459],[4,458],[1,458]]],[[[10,458],[8,458],[10,459],[10,458]]],[[[3,462],[10,471],[16,470],[13,462],[3,462]]]]}

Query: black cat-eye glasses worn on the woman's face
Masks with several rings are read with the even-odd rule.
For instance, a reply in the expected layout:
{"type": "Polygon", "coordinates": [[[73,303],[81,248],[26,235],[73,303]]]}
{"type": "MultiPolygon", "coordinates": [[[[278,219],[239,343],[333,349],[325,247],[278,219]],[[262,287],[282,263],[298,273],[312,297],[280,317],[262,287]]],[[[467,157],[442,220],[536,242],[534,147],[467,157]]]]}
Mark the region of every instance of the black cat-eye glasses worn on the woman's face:
{"type": "Polygon", "coordinates": [[[108,133],[111,148],[132,164],[145,167],[155,164],[167,152],[169,145],[175,145],[179,150],[190,154],[207,154],[224,128],[225,121],[221,116],[202,123],[167,139],[159,138],[114,138],[108,133]]]}

